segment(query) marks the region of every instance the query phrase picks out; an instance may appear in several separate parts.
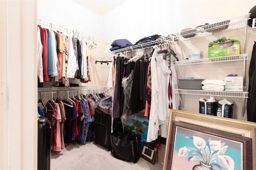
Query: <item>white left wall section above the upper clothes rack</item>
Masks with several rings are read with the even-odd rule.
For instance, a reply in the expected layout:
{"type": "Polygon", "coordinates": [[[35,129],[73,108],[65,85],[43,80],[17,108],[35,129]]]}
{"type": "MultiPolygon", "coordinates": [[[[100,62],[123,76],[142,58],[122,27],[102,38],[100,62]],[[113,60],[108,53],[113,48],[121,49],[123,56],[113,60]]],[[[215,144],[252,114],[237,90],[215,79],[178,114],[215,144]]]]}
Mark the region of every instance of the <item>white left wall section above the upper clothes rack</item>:
{"type": "Polygon", "coordinates": [[[58,21],[62,28],[66,25],[86,35],[103,37],[102,18],[71,0],[38,0],[37,14],[58,21]]]}

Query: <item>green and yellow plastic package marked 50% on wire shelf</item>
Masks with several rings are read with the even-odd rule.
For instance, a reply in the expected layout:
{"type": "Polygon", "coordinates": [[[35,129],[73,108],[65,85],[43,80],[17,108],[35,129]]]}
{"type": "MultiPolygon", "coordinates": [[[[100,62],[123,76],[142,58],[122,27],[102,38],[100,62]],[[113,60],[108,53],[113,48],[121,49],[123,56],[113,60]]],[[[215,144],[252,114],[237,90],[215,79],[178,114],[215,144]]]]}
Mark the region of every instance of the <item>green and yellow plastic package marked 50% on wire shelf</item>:
{"type": "Polygon", "coordinates": [[[227,40],[220,43],[209,43],[208,58],[240,55],[240,41],[235,39],[227,40]]]}

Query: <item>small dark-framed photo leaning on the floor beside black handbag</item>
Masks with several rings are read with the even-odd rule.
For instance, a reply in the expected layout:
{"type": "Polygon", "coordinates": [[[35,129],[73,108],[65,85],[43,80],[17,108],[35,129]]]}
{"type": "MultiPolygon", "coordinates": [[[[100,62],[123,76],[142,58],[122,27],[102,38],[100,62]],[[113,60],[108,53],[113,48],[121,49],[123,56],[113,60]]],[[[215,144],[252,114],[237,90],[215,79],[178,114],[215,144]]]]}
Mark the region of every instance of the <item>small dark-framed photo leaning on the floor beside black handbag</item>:
{"type": "Polygon", "coordinates": [[[155,164],[156,162],[156,155],[157,151],[154,151],[154,149],[150,149],[148,143],[143,142],[142,148],[140,150],[140,157],[144,158],[151,164],[155,164]]]}

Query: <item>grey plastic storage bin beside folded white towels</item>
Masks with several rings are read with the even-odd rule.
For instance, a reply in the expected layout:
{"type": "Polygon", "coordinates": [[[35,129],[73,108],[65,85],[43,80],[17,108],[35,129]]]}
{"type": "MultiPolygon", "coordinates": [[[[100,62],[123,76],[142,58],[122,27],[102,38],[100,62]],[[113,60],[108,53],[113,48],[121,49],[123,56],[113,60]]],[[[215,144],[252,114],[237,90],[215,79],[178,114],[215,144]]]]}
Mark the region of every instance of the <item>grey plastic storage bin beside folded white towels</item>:
{"type": "Polygon", "coordinates": [[[179,88],[180,89],[188,89],[188,90],[201,90],[202,89],[202,81],[204,79],[179,79],[179,88]]]}

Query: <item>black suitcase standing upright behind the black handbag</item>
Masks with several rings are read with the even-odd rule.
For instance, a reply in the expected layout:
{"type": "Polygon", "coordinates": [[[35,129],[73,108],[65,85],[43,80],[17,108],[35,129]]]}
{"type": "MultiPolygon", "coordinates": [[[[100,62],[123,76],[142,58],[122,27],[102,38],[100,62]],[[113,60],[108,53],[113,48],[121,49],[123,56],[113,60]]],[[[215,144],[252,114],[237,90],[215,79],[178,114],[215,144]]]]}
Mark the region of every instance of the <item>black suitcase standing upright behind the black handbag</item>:
{"type": "Polygon", "coordinates": [[[93,141],[110,150],[111,115],[95,109],[93,141]]]}

